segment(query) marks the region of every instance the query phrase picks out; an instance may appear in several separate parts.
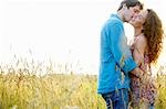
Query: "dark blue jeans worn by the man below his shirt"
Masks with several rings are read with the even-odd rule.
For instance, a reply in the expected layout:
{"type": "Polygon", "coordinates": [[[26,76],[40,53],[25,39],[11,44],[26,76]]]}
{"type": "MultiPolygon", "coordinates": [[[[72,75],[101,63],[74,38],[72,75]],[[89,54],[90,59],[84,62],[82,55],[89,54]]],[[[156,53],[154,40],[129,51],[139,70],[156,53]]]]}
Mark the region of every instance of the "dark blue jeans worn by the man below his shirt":
{"type": "Polygon", "coordinates": [[[102,97],[106,102],[107,109],[127,109],[128,107],[128,89],[118,89],[102,97]]]}

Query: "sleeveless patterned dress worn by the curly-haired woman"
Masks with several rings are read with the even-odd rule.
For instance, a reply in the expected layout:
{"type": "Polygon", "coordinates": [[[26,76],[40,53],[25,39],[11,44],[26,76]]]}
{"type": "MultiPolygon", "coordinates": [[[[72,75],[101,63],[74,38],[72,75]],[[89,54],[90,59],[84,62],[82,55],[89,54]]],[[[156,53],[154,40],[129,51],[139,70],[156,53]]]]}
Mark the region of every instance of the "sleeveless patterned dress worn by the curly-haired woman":
{"type": "MultiPolygon", "coordinates": [[[[136,36],[134,43],[139,36],[136,36]]],[[[135,46],[134,43],[131,46],[133,52],[135,46]]],[[[134,75],[131,75],[131,101],[133,107],[141,106],[142,103],[154,105],[156,98],[156,87],[152,78],[151,64],[148,53],[144,54],[143,63],[138,66],[143,72],[146,79],[141,80],[134,75]]]]}

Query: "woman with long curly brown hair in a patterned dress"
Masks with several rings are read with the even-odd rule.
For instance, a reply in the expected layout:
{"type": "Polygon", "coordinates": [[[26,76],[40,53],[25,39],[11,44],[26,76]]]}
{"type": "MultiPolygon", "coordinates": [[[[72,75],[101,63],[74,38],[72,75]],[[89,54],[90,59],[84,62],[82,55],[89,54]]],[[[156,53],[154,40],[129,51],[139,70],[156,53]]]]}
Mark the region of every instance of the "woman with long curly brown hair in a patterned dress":
{"type": "Polygon", "coordinates": [[[146,106],[145,109],[154,109],[156,88],[151,80],[151,64],[156,63],[162,50],[162,22],[153,10],[147,9],[136,14],[129,23],[135,29],[131,46],[133,57],[144,73],[144,78],[131,75],[132,107],[135,109],[137,106],[146,106]]]}

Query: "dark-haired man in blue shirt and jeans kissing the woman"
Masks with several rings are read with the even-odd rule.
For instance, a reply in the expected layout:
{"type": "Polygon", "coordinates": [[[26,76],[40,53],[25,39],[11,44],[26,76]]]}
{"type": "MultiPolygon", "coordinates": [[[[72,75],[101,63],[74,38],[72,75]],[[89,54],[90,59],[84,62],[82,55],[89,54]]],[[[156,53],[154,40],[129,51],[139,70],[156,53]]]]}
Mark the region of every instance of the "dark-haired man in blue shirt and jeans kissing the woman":
{"type": "Polygon", "coordinates": [[[104,24],[101,32],[101,65],[97,92],[102,95],[107,109],[127,109],[129,72],[136,74],[134,62],[124,33],[124,22],[143,9],[137,0],[124,0],[104,24]]]}

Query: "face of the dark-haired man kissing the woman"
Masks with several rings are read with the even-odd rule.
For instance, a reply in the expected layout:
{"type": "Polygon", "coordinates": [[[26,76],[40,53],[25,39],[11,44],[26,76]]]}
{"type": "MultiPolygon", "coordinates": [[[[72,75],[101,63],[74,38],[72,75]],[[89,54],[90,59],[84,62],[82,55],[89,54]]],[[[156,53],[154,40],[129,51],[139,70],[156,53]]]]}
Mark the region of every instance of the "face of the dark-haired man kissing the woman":
{"type": "Polygon", "coordinates": [[[135,14],[139,13],[139,11],[141,11],[139,6],[131,7],[128,9],[126,7],[124,10],[124,21],[125,22],[131,21],[135,14]]]}

